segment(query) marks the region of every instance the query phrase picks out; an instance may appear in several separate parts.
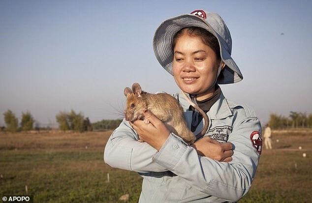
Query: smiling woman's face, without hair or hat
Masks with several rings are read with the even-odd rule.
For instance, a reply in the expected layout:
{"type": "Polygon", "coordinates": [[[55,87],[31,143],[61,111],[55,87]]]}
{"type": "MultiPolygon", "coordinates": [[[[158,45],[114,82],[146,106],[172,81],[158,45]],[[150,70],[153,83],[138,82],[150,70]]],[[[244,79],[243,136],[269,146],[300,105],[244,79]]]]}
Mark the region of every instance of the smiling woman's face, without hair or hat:
{"type": "MultiPolygon", "coordinates": [[[[201,38],[182,34],[173,49],[173,76],[177,85],[197,100],[213,95],[220,62],[215,52],[201,38]]],[[[224,67],[224,65],[223,65],[224,67]]]]}

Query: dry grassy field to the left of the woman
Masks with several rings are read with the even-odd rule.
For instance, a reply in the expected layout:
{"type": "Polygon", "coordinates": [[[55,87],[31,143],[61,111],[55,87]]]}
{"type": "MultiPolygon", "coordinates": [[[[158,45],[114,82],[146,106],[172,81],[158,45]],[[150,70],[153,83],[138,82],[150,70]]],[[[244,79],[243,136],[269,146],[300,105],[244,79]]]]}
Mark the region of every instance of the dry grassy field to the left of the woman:
{"type": "Polygon", "coordinates": [[[137,202],[142,178],[103,161],[107,132],[1,133],[0,196],[24,195],[34,202],[137,202]],[[107,182],[107,174],[110,182],[107,182]]]}

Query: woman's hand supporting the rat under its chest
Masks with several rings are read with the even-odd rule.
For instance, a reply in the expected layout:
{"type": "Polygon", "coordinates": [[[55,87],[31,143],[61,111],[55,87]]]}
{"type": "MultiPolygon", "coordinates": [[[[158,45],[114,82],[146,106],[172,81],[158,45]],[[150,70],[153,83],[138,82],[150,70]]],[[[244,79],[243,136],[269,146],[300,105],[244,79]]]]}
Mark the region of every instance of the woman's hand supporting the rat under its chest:
{"type": "Polygon", "coordinates": [[[130,125],[138,133],[142,141],[159,151],[169,137],[170,131],[152,112],[146,111],[143,114],[145,119],[149,120],[148,124],[143,120],[135,120],[130,122],[130,125]]]}

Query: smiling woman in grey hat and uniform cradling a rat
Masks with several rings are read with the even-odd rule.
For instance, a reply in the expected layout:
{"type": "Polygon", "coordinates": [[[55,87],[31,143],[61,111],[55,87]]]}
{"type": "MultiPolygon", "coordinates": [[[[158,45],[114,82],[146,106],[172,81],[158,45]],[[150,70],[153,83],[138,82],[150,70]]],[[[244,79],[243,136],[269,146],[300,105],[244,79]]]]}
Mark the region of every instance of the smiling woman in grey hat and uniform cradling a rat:
{"type": "MultiPolygon", "coordinates": [[[[210,122],[193,145],[169,132],[151,112],[144,113],[150,124],[124,120],[113,132],[104,160],[143,177],[139,202],[234,202],[250,189],[261,153],[261,126],[250,108],[225,99],[217,85],[243,79],[231,46],[221,17],[202,10],[168,19],[156,30],[156,58],[210,122]],[[139,137],[145,142],[137,142],[139,137]]],[[[202,117],[183,94],[175,97],[197,134],[202,117]]]]}

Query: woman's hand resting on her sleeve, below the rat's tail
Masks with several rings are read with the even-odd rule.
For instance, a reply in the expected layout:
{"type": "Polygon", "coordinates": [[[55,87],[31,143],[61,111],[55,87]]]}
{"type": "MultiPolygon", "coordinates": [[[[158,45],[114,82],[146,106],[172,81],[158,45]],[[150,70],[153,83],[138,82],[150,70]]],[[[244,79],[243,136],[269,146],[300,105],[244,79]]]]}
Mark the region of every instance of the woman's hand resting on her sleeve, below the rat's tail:
{"type": "Polygon", "coordinates": [[[196,149],[200,156],[206,156],[217,161],[232,161],[233,145],[231,143],[219,143],[217,140],[206,136],[191,146],[196,149]]]}

